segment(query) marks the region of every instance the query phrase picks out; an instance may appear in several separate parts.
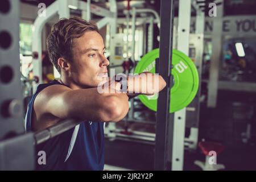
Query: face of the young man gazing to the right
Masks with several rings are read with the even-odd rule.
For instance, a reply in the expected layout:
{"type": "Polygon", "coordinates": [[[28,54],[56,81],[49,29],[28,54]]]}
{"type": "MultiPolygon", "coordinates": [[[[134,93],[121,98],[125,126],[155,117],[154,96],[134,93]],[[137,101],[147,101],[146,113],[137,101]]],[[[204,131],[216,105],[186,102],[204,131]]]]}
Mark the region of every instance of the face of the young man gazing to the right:
{"type": "Polygon", "coordinates": [[[107,66],[105,46],[100,34],[96,31],[85,32],[74,40],[73,61],[71,61],[71,77],[73,82],[82,88],[98,86],[107,81],[107,66]]]}

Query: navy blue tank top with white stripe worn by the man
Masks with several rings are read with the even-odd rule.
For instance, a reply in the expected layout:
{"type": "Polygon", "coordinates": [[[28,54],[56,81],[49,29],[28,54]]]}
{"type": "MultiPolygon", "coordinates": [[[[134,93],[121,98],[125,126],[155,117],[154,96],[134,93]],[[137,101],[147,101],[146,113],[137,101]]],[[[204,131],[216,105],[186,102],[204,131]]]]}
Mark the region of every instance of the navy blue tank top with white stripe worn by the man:
{"type": "MultiPolygon", "coordinates": [[[[31,131],[32,109],[36,96],[47,86],[61,84],[53,80],[40,84],[28,104],[25,129],[31,131]]],[[[63,85],[63,84],[61,84],[63,85]]],[[[103,170],[105,160],[104,122],[82,122],[75,128],[36,146],[36,154],[46,152],[46,164],[39,164],[38,170],[103,170]]],[[[38,155],[38,159],[41,155],[38,155]]]]}

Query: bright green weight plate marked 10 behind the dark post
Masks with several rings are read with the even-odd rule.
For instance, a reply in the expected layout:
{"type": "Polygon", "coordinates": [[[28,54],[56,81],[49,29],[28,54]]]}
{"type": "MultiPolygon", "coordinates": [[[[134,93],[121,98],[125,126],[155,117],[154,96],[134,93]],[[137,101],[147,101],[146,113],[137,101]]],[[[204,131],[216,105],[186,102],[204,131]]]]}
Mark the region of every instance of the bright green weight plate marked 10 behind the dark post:
{"type": "MultiPolygon", "coordinates": [[[[151,72],[155,73],[155,60],[159,58],[159,48],[144,55],[137,64],[134,73],[151,72]]],[[[161,60],[159,60],[161,61],[161,60]]],[[[163,61],[163,60],[162,60],[163,61]]],[[[172,75],[174,85],[171,88],[170,113],[174,113],[188,106],[195,98],[199,88],[199,76],[193,61],[183,52],[172,50],[172,75]]],[[[157,97],[138,96],[141,102],[149,109],[157,110],[157,97]]]]}

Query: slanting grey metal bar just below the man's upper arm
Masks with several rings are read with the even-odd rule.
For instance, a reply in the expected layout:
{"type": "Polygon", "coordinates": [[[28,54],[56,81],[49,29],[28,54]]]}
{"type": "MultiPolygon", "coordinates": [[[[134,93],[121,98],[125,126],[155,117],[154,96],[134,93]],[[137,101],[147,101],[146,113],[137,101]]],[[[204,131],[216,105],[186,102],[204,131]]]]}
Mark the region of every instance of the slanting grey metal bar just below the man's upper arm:
{"type": "Polygon", "coordinates": [[[79,125],[82,122],[83,121],[75,121],[74,119],[65,119],[64,121],[48,127],[45,130],[38,131],[37,133],[35,133],[35,144],[40,144],[50,138],[56,137],[57,135],[62,134],[69,129],[72,129],[73,127],[79,125]]]}

